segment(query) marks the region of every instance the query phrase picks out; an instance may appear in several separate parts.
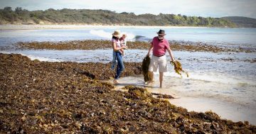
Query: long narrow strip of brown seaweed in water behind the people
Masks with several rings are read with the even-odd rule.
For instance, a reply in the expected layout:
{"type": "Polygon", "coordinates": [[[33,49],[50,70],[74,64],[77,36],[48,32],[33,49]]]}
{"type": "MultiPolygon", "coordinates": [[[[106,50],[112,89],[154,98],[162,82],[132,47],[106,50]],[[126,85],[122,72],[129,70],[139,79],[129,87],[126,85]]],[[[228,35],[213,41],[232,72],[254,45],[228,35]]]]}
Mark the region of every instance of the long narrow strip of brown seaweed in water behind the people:
{"type": "MultiPolygon", "coordinates": [[[[128,41],[129,49],[148,50],[147,42],[128,41]]],[[[16,44],[21,49],[36,49],[36,50],[96,50],[96,49],[111,49],[110,40],[71,40],[62,42],[20,42],[16,44]]],[[[171,50],[191,51],[191,52],[256,52],[256,50],[246,50],[243,48],[223,48],[220,46],[207,45],[203,43],[171,43],[171,50]]]]}

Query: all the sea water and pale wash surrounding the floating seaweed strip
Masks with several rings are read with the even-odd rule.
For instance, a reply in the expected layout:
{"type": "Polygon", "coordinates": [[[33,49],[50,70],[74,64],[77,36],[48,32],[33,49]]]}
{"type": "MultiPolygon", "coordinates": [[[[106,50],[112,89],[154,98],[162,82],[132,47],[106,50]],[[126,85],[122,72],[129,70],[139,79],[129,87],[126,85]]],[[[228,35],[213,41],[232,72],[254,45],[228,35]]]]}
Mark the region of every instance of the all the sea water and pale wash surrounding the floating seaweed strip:
{"type": "MultiPolygon", "coordinates": [[[[20,53],[31,58],[50,62],[110,62],[112,50],[19,50],[17,42],[64,41],[64,40],[110,40],[111,33],[119,29],[127,33],[128,40],[149,41],[157,28],[80,28],[0,30],[0,52],[20,53]]],[[[206,43],[225,47],[241,47],[256,50],[254,28],[164,28],[166,38],[185,43],[206,43]]],[[[129,44],[128,44],[129,45],[129,44]]],[[[147,50],[126,50],[125,62],[142,62],[147,50]]],[[[250,121],[256,124],[256,53],[246,52],[186,52],[174,51],[189,73],[181,78],[169,65],[164,74],[164,88],[159,89],[159,73],[149,91],[173,94],[170,100],[189,111],[213,110],[223,118],[233,121],[250,121]],[[230,60],[231,59],[231,60],[230,60]]],[[[170,60],[169,55],[167,59],[170,60]]],[[[125,77],[121,82],[144,86],[142,75],[125,77]]]]}

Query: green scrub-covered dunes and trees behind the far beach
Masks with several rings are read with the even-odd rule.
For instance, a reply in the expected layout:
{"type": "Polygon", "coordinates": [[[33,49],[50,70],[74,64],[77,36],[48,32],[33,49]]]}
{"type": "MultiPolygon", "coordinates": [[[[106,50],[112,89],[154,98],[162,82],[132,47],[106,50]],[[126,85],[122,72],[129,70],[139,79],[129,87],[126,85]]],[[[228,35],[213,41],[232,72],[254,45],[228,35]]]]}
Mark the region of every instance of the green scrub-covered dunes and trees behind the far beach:
{"type": "Polygon", "coordinates": [[[154,15],[150,13],[136,15],[134,13],[116,13],[108,10],[89,9],[48,9],[28,11],[16,7],[0,9],[0,24],[100,24],[126,26],[207,26],[236,27],[235,23],[223,18],[182,16],[181,14],[154,15]]]}

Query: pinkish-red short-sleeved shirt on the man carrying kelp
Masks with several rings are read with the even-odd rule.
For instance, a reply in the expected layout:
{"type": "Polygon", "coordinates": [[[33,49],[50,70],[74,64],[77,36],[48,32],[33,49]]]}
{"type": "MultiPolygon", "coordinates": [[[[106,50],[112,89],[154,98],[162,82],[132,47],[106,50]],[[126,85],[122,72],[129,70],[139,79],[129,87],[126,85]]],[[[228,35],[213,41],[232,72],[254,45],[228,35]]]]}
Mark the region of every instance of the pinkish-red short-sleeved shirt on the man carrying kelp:
{"type": "Polygon", "coordinates": [[[151,45],[153,45],[153,55],[155,56],[165,55],[166,49],[170,48],[169,43],[165,38],[159,40],[157,36],[153,38],[151,45]]]}

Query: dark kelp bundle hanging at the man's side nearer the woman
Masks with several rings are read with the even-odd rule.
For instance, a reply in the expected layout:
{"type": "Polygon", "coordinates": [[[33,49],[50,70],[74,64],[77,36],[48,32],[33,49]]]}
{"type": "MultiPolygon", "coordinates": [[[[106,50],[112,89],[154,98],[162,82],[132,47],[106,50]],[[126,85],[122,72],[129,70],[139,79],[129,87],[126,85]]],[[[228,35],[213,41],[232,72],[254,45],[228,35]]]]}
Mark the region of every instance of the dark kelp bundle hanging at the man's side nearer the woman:
{"type": "Polygon", "coordinates": [[[144,76],[144,82],[152,82],[153,81],[153,73],[149,72],[149,64],[150,64],[150,57],[146,55],[142,62],[142,73],[144,76]]]}

